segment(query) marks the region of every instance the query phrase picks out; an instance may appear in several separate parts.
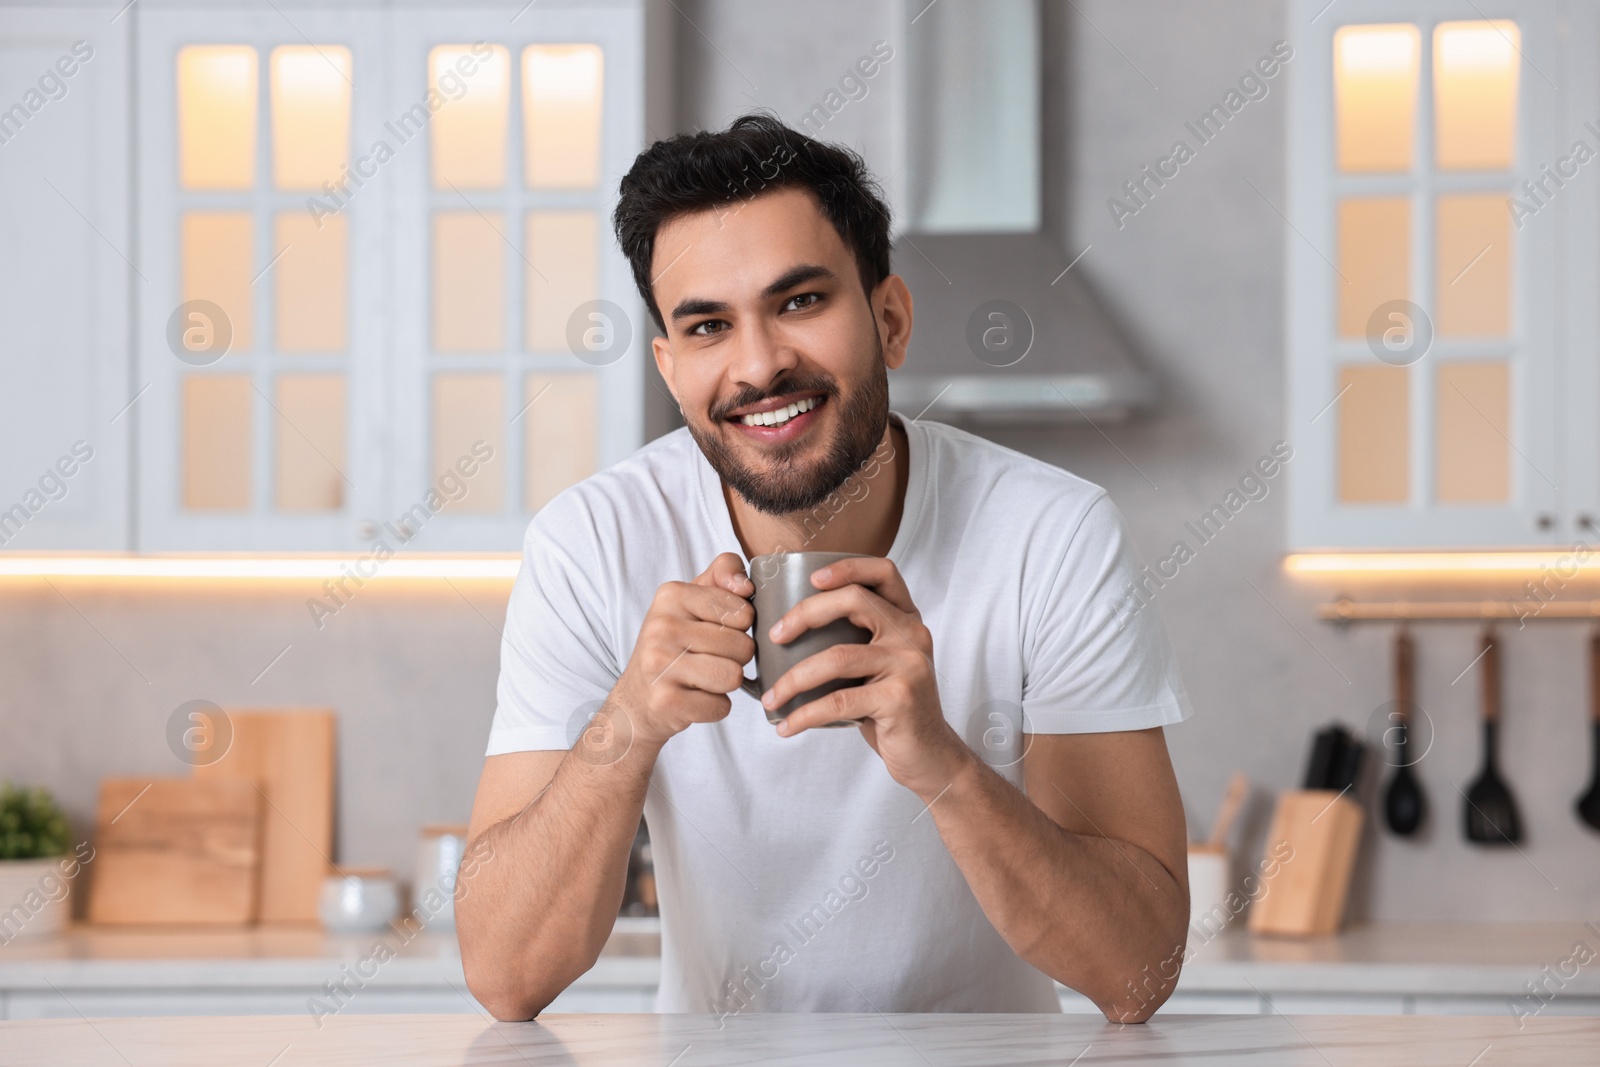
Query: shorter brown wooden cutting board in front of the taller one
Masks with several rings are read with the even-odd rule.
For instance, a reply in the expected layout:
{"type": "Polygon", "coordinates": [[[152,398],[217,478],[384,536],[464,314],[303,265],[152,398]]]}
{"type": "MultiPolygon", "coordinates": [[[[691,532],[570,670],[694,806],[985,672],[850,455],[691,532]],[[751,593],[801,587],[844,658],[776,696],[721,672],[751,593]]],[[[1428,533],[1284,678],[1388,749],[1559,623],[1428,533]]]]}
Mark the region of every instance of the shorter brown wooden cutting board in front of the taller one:
{"type": "Polygon", "coordinates": [[[94,817],[91,923],[250,923],[261,793],[250,782],[107,777],[94,817]]]}

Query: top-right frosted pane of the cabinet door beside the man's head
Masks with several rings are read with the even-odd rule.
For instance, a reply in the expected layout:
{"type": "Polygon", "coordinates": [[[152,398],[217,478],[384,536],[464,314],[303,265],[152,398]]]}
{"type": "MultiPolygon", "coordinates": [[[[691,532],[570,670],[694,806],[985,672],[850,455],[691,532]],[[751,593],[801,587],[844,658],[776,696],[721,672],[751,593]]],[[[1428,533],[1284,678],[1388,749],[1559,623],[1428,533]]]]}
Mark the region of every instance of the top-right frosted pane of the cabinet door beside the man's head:
{"type": "Polygon", "coordinates": [[[522,50],[523,176],[530,189],[592,189],[600,181],[598,45],[522,50]]]}

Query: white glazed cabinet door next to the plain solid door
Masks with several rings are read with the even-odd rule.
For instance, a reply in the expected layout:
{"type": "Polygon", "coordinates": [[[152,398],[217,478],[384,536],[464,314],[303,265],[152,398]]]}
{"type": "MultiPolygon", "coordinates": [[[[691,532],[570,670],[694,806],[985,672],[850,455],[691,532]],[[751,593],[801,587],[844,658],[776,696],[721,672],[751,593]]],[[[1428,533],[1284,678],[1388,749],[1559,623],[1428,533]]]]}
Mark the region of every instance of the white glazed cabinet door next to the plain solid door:
{"type": "Polygon", "coordinates": [[[338,550],[382,499],[381,16],[139,27],[139,547],[338,550]]]}

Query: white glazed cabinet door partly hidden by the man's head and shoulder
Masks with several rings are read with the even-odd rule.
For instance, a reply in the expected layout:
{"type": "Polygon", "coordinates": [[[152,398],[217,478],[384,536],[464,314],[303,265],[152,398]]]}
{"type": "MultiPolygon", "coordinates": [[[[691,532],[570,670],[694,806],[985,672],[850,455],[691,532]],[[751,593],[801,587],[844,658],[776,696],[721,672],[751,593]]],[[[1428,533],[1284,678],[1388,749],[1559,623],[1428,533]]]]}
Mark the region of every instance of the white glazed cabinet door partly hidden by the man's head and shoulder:
{"type": "Polygon", "coordinates": [[[394,13],[389,545],[515,552],[638,448],[648,334],[610,222],[642,64],[637,5],[394,13]]]}

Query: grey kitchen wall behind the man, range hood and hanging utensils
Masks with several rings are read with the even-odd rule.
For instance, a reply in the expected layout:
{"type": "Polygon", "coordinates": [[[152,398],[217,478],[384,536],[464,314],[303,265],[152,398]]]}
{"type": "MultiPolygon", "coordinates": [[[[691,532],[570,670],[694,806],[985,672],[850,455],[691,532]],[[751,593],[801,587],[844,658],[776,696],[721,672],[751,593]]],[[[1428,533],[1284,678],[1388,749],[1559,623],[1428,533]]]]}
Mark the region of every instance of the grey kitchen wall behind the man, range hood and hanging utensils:
{"type": "MultiPolygon", "coordinates": [[[[680,0],[651,13],[654,50],[677,69],[666,128],[715,128],[755,106],[795,123],[877,40],[890,0],[821,0],[781,19],[774,0],[680,0]],[[782,24],[774,37],[771,27],[782,24]],[[704,32],[704,35],[702,35],[704,32]]],[[[1294,45],[1280,3],[1078,0],[1048,5],[1046,56],[1069,120],[1046,131],[1045,218],[1075,270],[1118,314],[1158,373],[1160,410],[1125,424],[987,432],[1110,491],[1147,561],[1190,541],[1190,523],[1296,427],[1283,405],[1285,98],[1291,59],[1147,206],[1118,221],[1122,184],[1165,155],[1275,42],[1294,45]]],[[[888,166],[891,93],[835,115],[826,136],[888,166]]],[[[891,178],[890,174],[883,174],[891,178]]],[[[1592,181],[1592,179],[1589,179],[1592,181]]],[[[912,346],[915,358],[915,344],[912,346]]],[[[651,432],[670,422],[658,397],[651,432]]],[[[939,418],[938,410],[930,419],[939,418]]],[[[1270,793],[1294,787],[1310,733],[1334,718],[1368,731],[1389,696],[1387,627],[1315,619],[1331,595],[1280,568],[1283,483],[1195,550],[1155,606],[1195,718],[1168,731],[1192,835],[1234,769],[1254,782],[1238,833],[1259,857],[1270,793]]],[[[512,547],[512,545],[507,545],[512,547]]],[[[339,712],[339,854],[411,867],[422,822],[464,821],[494,704],[504,587],[363,590],[318,632],[315,590],[170,587],[154,593],[8,584],[0,611],[0,774],[56,789],[77,822],[107,774],[178,774],[165,725],[189,699],[331,705],[339,712]],[[67,601],[70,598],[70,603],[67,601]],[[264,667],[290,649],[266,673],[264,667]],[[258,678],[259,675],[259,678],[258,678]]],[[[1365,838],[1354,913],[1371,918],[1570,918],[1600,913],[1600,835],[1571,813],[1589,776],[1582,624],[1502,627],[1502,766],[1528,841],[1504,853],[1461,840],[1461,795],[1478,768],[1477,654],[1467,624],[1419,625],[1418,699],[1437,726],[1418,766],[1432,824],[1413,841],[1365,838]]],[[[1373,737],[1376,733],[1370,731],[1373,737]]],[[[1371,768],[1378,769],[1378,768],[1371,768]]],[[[1376,792],[1382,774],[1368,774],[1376,792]]],[[[1376,813],[1376,806],[1370,806],[1376,813]]]]}

